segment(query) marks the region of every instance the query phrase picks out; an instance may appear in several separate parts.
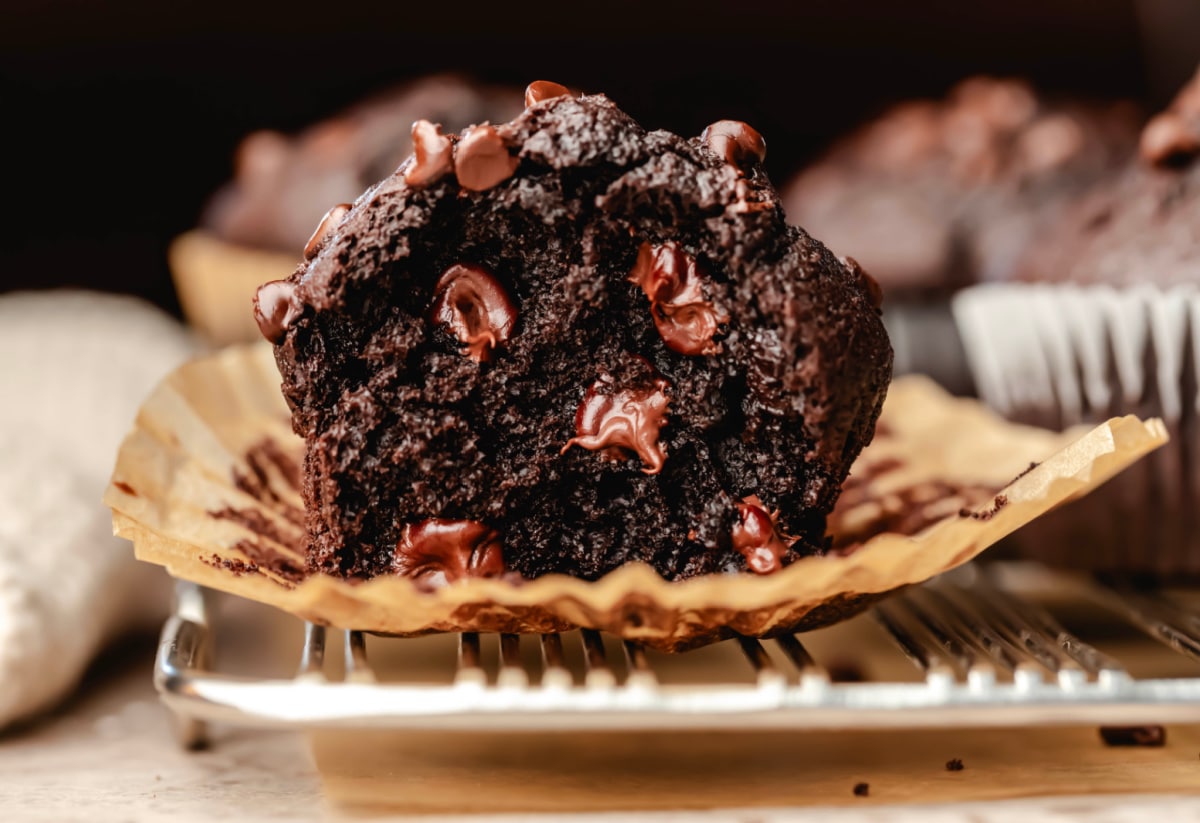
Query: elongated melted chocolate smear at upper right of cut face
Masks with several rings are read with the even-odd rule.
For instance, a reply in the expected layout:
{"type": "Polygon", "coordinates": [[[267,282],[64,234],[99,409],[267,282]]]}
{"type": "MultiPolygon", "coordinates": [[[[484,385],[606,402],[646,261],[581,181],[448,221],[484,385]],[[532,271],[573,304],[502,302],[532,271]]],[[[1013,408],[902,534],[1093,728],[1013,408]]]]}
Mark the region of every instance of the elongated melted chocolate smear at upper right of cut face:
{"type": "Polygon", "coordinates": [[[704,299],[696,260],[679,244],[643,242],[629,280],[649,299],[654,325],[667,348],[686,355],[721,352],[713,337],[730,318],[704,299]]]}

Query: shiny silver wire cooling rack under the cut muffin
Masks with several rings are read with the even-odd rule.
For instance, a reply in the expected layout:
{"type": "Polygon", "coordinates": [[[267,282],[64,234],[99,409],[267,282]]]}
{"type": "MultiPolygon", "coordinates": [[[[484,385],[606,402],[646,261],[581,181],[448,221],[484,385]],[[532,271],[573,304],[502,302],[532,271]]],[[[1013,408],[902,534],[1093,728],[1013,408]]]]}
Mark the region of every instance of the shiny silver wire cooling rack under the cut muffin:
{"type": "MultiPolygon", "coordinates": [[[[1127,626],[1200,661],[1200,609],[1169,593],[1096,583],[1087,584],[1085,596],[1127,626]]],[[[614,661],[613,644],[606,647],[594,631],[500,635],[499,665],[491,673],[482,663],[484,638],[463,633],[445,684],[388,683],[367,660],[361,632],[313,624],[306,624],[294,677],[235,677],[211,669],[218,637],[209,599],[193,584],[178,584],[156,660],[155,684],[179,716],[181,741],[188,746],[203,744],[210,721],[523,732],[1200,722],[1200,677],[1135,678],[1120,660],[1064,630],[1033,599],[978,569],[875,606],[870,617],[918,677],[860,683],[835,681],[792,635],[732,641],[740,647],[740,672],[707,672],[703,681],[685,685],[664,683],[637,643],[618,644],[624,661],[614,661]],[[341,669],[336,678],[325,666],[332,636],[343,657],[340,667],[330,667],[341,669]],[[566,642],[582,644],[586,666],[580,672],[565,665],[566,642]],[[540,655],[522,655],[527,644],[539,645],[540,655]]]]}

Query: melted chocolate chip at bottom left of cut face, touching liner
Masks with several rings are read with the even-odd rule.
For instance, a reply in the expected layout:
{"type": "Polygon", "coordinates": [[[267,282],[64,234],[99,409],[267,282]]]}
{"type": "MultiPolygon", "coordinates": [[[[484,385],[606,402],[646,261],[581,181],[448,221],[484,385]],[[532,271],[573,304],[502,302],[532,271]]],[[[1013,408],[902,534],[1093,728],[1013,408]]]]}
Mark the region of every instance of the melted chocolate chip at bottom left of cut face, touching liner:
{"type": "Polygon", "coordinates": [[[500,535],[475,521],[410,523],[396,545],[392,569],[427,588],[466,577],[499,577],[505,572],[500,535]]]}

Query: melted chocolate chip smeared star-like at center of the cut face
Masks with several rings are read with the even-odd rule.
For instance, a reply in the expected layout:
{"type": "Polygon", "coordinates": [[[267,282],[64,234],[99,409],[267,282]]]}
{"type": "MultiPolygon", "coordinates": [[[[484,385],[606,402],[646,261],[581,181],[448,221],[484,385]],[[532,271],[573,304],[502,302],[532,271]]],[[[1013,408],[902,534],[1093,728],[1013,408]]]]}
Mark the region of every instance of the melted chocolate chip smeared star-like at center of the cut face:
{"type": "Polygon", "coordinates": [[[575,413],[576,435],[566,441],[560,453],[581,446],[622,458],[618,450],[629,449],[642,458],[642,471],[658,474],[667,458],[659,444],[659,432],[666,425],[671,402],[667,386],[661,378],[644,389],[614,389],[608,379],[596,380],[575,413]]]}

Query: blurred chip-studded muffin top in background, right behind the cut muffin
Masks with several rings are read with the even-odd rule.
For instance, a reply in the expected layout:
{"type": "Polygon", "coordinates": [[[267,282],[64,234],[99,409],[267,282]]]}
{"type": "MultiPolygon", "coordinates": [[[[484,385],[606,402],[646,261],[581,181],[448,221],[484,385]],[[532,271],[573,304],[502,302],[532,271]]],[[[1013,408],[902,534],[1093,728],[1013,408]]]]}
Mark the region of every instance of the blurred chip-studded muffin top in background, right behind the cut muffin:
{"type": "Polygon", "coordinates": [[[1118,167],[1136,122],[1127,103],[1052,101],[1019,80],[972,78],[845,138],[784,202],[888,292],[1004,280],[1048,214],[1118,167]]]}

